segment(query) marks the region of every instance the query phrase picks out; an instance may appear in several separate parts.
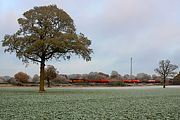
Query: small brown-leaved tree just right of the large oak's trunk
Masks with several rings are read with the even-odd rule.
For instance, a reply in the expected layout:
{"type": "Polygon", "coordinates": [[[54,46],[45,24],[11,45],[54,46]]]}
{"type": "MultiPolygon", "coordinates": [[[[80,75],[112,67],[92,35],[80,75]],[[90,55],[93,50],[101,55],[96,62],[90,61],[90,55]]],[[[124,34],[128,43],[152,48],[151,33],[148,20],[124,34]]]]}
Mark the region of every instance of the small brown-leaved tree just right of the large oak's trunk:
{"type": "Polygon", "coordinates": [[[45,76],[48,87],[50,87],[50,80],[56,78],[57,75],[58,75],[58,71],[56,70],[56,68],[53,65],[47,65],[45,69],[45,76]]]}

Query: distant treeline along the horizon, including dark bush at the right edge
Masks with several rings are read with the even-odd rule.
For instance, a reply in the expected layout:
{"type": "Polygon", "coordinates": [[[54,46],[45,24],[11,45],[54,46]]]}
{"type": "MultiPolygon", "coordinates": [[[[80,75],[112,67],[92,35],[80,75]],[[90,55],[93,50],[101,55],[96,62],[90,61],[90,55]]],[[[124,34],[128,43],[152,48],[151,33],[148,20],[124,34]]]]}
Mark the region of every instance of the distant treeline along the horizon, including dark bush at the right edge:
{"type": "MultiPolygon", "coordinates": [[[[147,80],[161,80],[160,76],[155,74],[149,75],[146,73],[138,73],[136,76],[129,74],[121,75],[117,71],[112,71],[111,74],[106,74],[103,72],[90,72],[89,74],[60,74],[57,69],[48,65],[45,69],[45,81],[47,86],[50,85],[58,85],[58,84],[69,84],[71,80],[113,80],[113,81],[121,81],[127,79],[136,79],[141,81],[147,80]]],[[[176,75],[174,78],[175,84],[180,84],[180,74],[176,75]]],[[[18,72],[13,77],[10,76],[1,76],[0,83],[1,84],[14,84],[14,85],[24,85],[24,84],[32,84],[38,85],[40,81],[40,77],[38,74],[34,76],[30,76],[24,72],[18,72]]]]}

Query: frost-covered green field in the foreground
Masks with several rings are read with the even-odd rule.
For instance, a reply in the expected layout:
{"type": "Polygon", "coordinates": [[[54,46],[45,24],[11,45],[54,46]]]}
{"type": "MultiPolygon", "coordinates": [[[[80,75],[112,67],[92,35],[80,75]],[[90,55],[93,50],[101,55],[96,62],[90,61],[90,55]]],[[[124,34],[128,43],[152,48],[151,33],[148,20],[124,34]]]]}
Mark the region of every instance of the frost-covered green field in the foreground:
{"type": "Polygon", "coordinates": [[[180,88],[0,88],[0,120],[179,120],[180,88]]]}

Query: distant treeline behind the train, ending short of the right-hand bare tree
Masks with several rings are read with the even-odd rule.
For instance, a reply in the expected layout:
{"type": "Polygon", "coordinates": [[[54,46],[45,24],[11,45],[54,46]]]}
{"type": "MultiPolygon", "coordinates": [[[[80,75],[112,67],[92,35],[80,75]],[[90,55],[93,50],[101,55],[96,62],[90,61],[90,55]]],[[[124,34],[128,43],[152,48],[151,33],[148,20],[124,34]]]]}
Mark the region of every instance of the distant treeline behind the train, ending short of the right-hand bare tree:
{"type": "MultiPolygon", "coordinates": [[[[68,82],[68,80],[72,79],[84,79],[84,80],[124,80],[124,79],[138,79],[138,80],[159,80],[160,76],[157,75],[148,75],[146,73],[138,73],[136,76],[130,76],[125,74],[124,76],[119,74],[117,71],[112,71],[111,74],[106,74],[103,72],[90,72],[89,74],[59,74],[59,72],[54,67],[49,67],[46,69],[46,80],[47,81],[55,81],[55,82],[68,82]]],[[[14,75],[14,77],[10,76],[1,76],[0,82],[12,83],[12,82],[21,82],[21,83],[38,83],[39,75],[35,74],[34,76],[30,76],[24,72],[18,72],[14,75]]]]}

